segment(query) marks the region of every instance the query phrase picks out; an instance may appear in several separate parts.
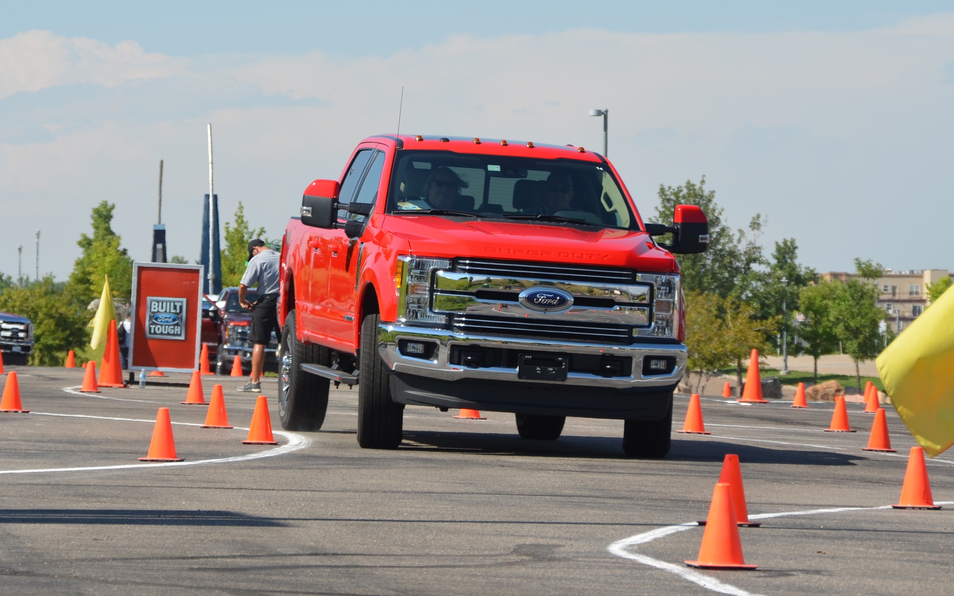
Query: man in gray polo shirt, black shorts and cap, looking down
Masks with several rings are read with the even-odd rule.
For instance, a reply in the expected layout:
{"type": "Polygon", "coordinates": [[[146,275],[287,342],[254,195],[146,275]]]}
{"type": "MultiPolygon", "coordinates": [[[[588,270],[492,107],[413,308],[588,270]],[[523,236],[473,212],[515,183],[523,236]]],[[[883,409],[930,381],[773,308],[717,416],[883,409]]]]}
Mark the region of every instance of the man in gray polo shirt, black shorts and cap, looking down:
{"type": "Polygon", "coordinates": [[[261,369],[265,365],[265,346],[272,339],[272,330],[281,333],[276,301],[279,298],[278,253],[268,248],[261,238],[248,243],[248,267],[239,283],[239,304],[252,310],[252,378],[239,391],[261,393],[261,369]],[[255,304],[245,298],[246,292],[259,284],[259,299],[255,304]]]}

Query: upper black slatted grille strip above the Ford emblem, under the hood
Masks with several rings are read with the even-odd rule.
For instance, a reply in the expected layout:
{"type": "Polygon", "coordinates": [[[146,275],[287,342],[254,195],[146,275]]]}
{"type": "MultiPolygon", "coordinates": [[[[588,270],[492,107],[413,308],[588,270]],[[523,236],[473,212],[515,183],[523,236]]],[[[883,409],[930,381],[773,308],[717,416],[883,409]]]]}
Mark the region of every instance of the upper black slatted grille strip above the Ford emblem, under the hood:
{"type": "Polygon", "coordinates": [[[475,276],[517,277],[576,283],[633,283],[635,281],[635,273],[626,269],[591,267],[571,263],[457,258],[454,260],[454,270],[475,276]]]}

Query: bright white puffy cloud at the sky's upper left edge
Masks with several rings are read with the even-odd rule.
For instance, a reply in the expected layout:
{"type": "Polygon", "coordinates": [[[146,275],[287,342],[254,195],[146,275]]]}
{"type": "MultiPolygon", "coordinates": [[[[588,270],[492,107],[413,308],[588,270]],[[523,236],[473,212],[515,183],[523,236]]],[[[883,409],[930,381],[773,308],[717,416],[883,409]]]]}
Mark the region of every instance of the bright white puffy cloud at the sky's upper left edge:
{"type": "Polygon", "coordinates": [[[130,81],[169,78],[188,65],[184,58],[146,53],[135,41],[111,46],[51,31],[26,31],[0,39],[0,98],[74,83],[112,88],[130,81]]]}

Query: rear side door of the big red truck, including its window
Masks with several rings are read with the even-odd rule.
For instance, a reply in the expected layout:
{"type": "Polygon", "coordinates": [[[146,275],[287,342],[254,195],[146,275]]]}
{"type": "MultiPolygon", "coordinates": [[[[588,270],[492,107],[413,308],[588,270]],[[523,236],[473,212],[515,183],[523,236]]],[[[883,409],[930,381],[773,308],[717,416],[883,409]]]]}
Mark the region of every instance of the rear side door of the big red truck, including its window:
{"type": "MultiPolygon", "coordinates": [[[[351,202],[374,153],[374,149],[362,149],[351,160],[351,166],[342,179],[341,190],[338,194],[342,204],[351,202]]],[[[308,277],[305,280],[307,287],[305,297],[308,304],[306,308],[301,309],[299,325],[302,330],[306,330],[306,335],[321,343],[327,342],[328,321],[336,316],[330,309],[328,298],[328,271],[332,256],[338,254],[339,247],[342,245],[342,237],[344,237],[342,230],[308,229],[309,266],[305,268],[308,277]]],[[[344,239],[347,240],[346,237],[344,239]]]]}

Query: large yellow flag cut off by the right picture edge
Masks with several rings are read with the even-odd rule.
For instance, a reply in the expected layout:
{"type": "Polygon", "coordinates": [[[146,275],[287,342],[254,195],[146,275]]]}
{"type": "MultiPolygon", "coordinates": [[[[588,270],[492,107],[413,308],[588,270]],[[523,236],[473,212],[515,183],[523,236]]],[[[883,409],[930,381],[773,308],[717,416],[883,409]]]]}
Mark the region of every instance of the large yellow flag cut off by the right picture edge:
{"type": "Polygon", "coordinates": [[[954,444],[954,292],[941,295],[876,360],[902,421],[932,458],[954,444]]]}

